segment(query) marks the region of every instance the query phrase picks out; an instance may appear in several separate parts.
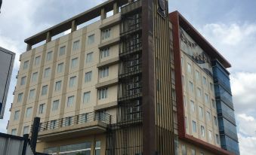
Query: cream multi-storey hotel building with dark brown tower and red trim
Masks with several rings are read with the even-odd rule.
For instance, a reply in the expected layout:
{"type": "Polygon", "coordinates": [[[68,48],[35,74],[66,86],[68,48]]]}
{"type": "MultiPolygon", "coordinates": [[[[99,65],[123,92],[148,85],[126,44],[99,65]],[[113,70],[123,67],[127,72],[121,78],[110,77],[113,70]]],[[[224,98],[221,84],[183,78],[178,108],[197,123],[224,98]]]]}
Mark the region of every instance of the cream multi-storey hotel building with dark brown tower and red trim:
{"type": "Polygon", "coordinates": [[[37,151],[239,154],[231,65],[168,1],[108,0],[25,42],[8,133],[40,117],[37,151]]]}

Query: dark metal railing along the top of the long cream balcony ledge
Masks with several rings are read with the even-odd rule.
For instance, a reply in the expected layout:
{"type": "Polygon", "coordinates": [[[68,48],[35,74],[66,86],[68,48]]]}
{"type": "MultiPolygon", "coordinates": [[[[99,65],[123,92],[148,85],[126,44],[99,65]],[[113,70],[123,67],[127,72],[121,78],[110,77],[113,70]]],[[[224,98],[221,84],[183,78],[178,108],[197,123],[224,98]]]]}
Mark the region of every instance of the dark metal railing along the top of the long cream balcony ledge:
{"type": "Polygon", "coordinates": [[[94,121],[101,121],[103,123],[111,124],[111,115],[102,112],[90,112],[72,117],[64,117],[57,120],[50,120],[44,123],[40,123],[39,132],[94,121]]]}

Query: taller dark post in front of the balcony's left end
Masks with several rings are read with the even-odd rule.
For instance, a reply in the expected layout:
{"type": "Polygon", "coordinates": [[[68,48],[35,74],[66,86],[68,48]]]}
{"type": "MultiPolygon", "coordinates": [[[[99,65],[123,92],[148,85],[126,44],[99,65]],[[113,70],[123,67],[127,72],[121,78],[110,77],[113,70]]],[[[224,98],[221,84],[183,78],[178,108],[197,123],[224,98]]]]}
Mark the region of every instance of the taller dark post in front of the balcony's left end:
{"type": "Polygon", "coordinates": [[[36,141],[39,135],[39,125],[40,125],[40,117],[35,117],[32,127],[32,135],[31,135],[31,147],[32,150],[35,152],[36,141]]]}

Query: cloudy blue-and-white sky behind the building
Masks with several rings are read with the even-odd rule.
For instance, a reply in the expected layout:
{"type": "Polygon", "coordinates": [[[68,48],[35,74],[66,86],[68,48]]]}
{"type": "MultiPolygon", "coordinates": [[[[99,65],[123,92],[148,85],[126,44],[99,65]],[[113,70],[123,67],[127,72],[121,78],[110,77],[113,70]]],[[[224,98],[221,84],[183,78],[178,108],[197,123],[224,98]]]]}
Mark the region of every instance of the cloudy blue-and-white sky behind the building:
{"type": "MultiPolygon", "coordinates": [[[[16,85],[18,58],[26,50],[25,38],[105,2],[104,0],[3,0],[0,14],[0,47],[16,55],[5,118],[16,85]]],[[[169,0],[169,12],[180,11],[233,65],[229,69],[242,155],[256,153],[256,1],[169,0]]]]}

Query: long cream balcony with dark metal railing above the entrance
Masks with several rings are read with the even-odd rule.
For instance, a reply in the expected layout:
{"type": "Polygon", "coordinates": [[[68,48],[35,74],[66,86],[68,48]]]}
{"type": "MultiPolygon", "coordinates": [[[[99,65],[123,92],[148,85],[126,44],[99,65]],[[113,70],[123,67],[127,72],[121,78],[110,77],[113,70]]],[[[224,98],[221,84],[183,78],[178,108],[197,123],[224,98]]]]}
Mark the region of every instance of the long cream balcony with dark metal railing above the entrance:
{"type": "Polygon", "coordinates": [[[106,132],[111,115],[101,112],[79,114],[40,123],[39,141],[55,141],[106,132]]]}

